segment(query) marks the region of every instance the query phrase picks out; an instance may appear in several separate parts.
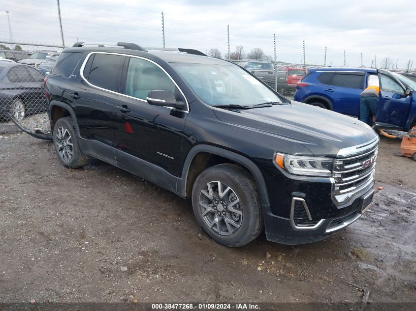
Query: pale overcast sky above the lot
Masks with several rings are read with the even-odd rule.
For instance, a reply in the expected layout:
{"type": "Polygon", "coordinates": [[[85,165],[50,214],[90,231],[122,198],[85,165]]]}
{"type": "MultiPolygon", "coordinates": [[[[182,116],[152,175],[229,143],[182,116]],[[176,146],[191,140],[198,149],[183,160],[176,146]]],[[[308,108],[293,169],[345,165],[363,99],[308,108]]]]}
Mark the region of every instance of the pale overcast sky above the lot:
{"type": "MultiPolygon", "coordinates": [[[[277,60],[300,62],[302,42],[306,62],[370,66],[377,55],[399,67],[416,58],[416,5],[404,0],[61,0],[65,45],[79,41],[134,42],[162,46],[161,12],[165,18],[166,47],[187,47],[227,53],[243,45],[245,52],[261,48],[277,60]],[[413,39],[412,39],[413,38],[413,39]]],[[[14,41],[60,44],[56,0],[0,0],[0,41],[9,40],[6,10],[14,41]]],[[[416,67],[416,62],[414,67],[416,67]]]]}

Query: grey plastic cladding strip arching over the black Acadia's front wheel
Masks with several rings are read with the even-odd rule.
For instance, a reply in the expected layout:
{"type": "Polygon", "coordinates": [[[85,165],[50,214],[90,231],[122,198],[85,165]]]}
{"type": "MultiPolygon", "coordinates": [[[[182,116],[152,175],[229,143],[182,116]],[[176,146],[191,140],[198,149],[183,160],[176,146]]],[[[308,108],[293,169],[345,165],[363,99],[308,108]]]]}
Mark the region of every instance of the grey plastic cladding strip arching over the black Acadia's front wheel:
{"type": "Polygon", "coordinates": [[[259,195],[260,195],[260,201],[261,201],[261,205],[263,207],[268,207],[270,206],[269,203],[269,196],[267,193],[267,188],[266,188],[266,183],[264,182],[264,178],[263,175],[261,174],[260,170],[258,169],[258,167],[256,166],[256,164],[254,164],[253,161],[251,161],[250,159],[229,151],[229,150],[225,150],[223,148],[219,148],[219,147],[215,147],[215,146],[211,146],[211,145],[206,145],[206,144],[198,144],[194,147],[192,147],[192,149],[189,151],[187,158],[185,159],[185,164],[184,167],[182,169],[182,178],[178,178],[177,180],[177,185],[176,185],[176,192],[185,197],[186,196],[186,183],[187,183],[187,177],[188,177],[188,172],[189,172],[189,168],[192,162],[192,159],[195,157],[196,154],[200,153],[200,152],[208,152],[208,153],[212,153],[215,155],[219,155],[222,156],[224,158],[230,159],[232,161],[235,161],[239,164],[241,164],[244,168],[246,168],[247,170],[249,170],[252,175],[254,176],[254,179],[256,181],[257,184],[257,189],[259,191],[259,195]]]}

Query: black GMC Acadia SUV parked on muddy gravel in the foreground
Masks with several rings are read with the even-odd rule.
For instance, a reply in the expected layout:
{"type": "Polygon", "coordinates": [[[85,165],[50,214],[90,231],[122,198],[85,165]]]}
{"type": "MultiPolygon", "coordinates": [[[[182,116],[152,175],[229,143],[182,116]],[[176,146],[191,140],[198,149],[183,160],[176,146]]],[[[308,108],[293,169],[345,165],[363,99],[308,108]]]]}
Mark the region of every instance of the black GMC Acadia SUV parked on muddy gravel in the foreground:
{"type": "Polygon", "coordinates": [[[290,101],[247,70],[190,49],[64,49],[45,78],[56,153],[90,157],[192,198],[227,246],[301,244],[371,203],[379,138],[366,124],[290,101]]]}

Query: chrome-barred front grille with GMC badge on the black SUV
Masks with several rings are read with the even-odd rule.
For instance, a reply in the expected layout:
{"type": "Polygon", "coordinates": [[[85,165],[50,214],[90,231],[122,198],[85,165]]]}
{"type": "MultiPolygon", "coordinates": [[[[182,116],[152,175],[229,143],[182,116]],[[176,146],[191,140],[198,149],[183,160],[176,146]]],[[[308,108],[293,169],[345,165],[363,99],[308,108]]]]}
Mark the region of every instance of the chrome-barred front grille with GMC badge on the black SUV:
{"type": "Polygon", "coordinates": [[[356,152],[335,160],[333,197],[338,203],[345,202],[374,181],[374,170],[378,154],[378,138],[367,147],[356,148],[356,152]]]}

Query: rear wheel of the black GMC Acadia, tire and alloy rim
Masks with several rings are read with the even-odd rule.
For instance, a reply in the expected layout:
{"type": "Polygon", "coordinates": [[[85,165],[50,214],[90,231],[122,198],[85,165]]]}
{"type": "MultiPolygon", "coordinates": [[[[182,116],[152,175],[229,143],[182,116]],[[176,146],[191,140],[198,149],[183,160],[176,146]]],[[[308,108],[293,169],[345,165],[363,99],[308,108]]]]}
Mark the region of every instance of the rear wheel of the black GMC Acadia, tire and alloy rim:
{"type": "Polygon", "coordinates": [[[60,118],[55,123],[53,140],[55,152],[65,167],[78,169],[88,164],[88,157],[81,151],[71,117],[60,118]]]}

